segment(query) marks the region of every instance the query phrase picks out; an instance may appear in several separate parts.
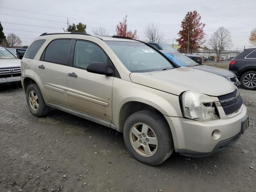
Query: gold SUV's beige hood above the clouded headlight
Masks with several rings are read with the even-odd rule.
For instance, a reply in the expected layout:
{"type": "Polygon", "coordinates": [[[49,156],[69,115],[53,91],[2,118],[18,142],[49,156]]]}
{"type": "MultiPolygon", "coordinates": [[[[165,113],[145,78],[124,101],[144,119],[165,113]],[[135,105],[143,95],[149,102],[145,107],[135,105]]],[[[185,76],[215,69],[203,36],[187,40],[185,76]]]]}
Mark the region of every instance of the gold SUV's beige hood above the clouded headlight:
{"type": "Polygon", "coordinates": [[[188,67],[157,72],[131,73],[130,78],[134,83],[175,95],[191,90],[210,96],[220,96],[236,89],[236,86],[223,77],[188,67]]]}

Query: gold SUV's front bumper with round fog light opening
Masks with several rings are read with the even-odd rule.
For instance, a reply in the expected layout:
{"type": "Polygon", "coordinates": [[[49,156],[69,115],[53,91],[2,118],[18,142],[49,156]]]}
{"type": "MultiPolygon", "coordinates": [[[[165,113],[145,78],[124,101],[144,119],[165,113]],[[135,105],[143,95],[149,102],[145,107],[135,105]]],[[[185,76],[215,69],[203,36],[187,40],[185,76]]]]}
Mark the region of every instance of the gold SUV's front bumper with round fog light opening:
{"type": "Polygon", "coordinates": [[[234,144],[241,136],[241,122],[247,117],[244,104],[230,117],[200,122],[180,117],[165,116],[168,121],[176,152],[186,156],[208,156],[234,144]],[[218,139],[212,136],[220,132],[218,139]]]}

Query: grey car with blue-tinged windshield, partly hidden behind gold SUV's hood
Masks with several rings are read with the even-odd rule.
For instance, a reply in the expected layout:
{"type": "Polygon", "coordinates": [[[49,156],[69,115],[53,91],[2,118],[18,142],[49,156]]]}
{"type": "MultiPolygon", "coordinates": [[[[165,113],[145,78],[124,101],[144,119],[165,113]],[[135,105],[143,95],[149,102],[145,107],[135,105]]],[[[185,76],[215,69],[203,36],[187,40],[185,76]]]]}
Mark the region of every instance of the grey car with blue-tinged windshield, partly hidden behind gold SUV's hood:
{"type": "Polygon", "coordinates": [[[217,68],[217,67],[208,66],[208,65],[198,64],[198,63],[194,62],[193,60],[189,59],[188,57],[186,57],[184,54],[181,54],[174,48],[172,51],[161,50],[161,52],[163,52],[166,56],[168,56],[168,58],[172,62],[176,63],[179,66],[194,68],[194,69],[198,69],[198,70],[202,70],[202,71],[206,71],[209,73],[213,73],[213,74],[222,76],[222,77],[226,78],[227,80],[229,80],[230,82],[232,82],[238,88],[240,87],[240,82],[236,78],[236,75],[231,71],[224,70],[224,69],[217,68]]]}

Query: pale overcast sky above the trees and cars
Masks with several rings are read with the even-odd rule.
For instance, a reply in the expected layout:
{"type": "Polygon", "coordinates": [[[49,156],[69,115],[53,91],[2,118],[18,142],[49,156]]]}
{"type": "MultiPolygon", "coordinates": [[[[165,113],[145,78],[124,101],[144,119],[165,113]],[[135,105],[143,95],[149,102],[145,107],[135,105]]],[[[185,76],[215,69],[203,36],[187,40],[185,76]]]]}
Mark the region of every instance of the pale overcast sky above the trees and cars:
{"type": "MultiPolygon", "coordinates": [[[[188,11],[196,10],[206,24],[206,37],[220,26],[230,30],[232,47],[252,47],[250,31],[256,28],[255,0],[0,0],[0,22],[4,34],[14,33],[22,45],[30,45],[44,32],[63,32],[69,23],[82,22],[86,32],[102,26],[110,35],[127,14],[128,30],[137,30],[143,39],[147,24],[157,24],[169,40],[178,38],[180,24],[188,11]],[[40,14],[39,14],[40,13],[40,14]]],[[[206,41],[208,46],[208,41],[206,41]]]]}

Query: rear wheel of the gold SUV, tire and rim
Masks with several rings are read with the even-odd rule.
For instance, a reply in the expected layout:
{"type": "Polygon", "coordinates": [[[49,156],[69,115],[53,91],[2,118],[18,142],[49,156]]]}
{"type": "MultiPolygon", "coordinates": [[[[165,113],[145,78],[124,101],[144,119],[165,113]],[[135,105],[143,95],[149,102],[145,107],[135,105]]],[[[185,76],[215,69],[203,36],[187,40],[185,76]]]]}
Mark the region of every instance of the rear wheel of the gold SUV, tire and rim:
{"type": "Polygon", "coordinates": [[[34,116],[44,116],[50,111],[50,107],[46,106],[37,84],[31,84],[28,86],[26,90],[26,101],[28,109],[34,116]]]}

